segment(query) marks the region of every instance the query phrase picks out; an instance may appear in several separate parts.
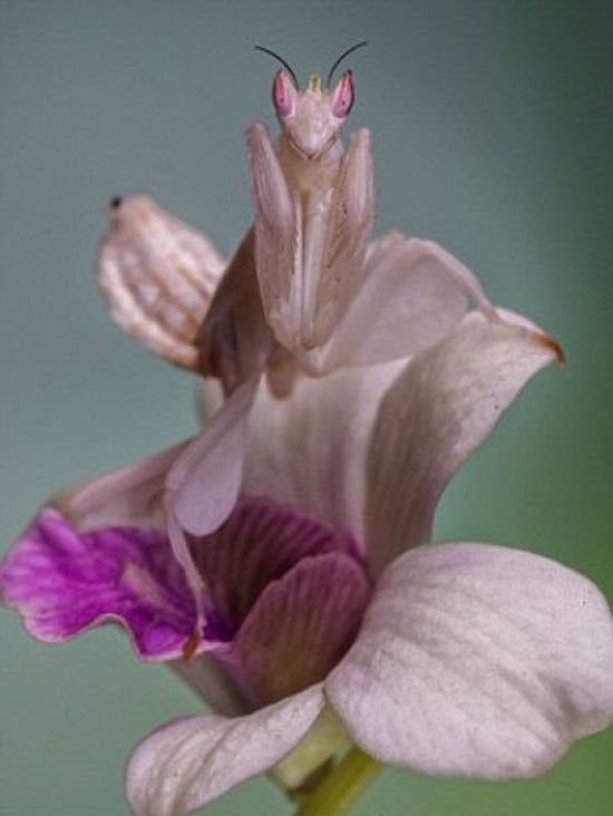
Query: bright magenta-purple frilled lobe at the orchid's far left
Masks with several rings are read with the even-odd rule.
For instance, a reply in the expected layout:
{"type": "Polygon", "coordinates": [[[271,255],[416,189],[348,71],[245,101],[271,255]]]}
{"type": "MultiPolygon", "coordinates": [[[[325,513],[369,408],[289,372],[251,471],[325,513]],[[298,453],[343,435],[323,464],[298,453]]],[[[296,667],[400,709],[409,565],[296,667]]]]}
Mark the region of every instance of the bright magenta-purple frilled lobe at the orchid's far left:
{"type": "Polygon", "coordinates": [[[77,533],[45,509],[0,572],[4,603],[39,640],[60,642],[100,623],[119,623],[142,660],[181,657],[195,609],[167,538],[109,527],[77,533]]]}

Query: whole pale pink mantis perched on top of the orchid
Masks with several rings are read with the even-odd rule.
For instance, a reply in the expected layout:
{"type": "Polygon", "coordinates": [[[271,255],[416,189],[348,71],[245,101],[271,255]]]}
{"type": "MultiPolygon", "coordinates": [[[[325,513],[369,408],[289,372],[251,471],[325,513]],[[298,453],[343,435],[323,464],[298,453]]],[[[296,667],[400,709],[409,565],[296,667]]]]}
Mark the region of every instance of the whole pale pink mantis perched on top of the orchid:
{"type": "MultiPolygon", "coordinates": [[[[353,76],[344,71],[330,88],[312,75],[300,91],[286,67],[272,91],[279,142],[260,123],[246,132],[254,226],[225,272],[206,239],[143,198],[114,207],[99,256],[114,318],[166,359],[224,386],[224,405],[169,470],[158,456],[117,483],[136,492],[146,484],[149,498],[165,493],[171,541],[196,596],[202,583],[184,531],[211,533],[234,506],[263,371],[285,396],[298,371],[323,376],[416,353],[450,331],[468,301],[498,319],[475,276],[437,244],[399,233],[369,244],[370,133],[351,134],[347,149],[340,140],[353,76]]],[[[96,501],[93,486],[87,502],[96,501]]]]}

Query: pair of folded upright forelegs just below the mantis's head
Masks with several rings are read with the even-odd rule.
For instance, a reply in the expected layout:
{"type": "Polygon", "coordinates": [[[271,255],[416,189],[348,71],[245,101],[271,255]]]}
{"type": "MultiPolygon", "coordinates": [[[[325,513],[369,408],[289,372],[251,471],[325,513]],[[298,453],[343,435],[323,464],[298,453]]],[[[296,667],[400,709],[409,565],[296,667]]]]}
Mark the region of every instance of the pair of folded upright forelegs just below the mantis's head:
{"type": "Polygon", "coordinates": [[[247,130],[247,153],[266,319],[290,351],[321,346],[361,278],[373,217],[370,134],[352,134],[325,172],[317,159],[301,167],[300,156],[288,172],[261,124],[247,130]]]}

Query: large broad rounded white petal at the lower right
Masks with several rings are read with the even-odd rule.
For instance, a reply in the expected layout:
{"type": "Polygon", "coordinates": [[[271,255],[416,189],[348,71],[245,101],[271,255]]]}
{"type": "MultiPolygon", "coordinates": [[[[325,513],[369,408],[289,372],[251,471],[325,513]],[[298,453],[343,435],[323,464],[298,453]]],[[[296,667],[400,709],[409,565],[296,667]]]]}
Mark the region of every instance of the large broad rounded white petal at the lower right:
{"type": "Polygon", "coordinates": [[[382,575],[327,694],[382,761],[534,776],[613,720],[611,614],[587,579],[541,556],[426,545],[382,575]]]}

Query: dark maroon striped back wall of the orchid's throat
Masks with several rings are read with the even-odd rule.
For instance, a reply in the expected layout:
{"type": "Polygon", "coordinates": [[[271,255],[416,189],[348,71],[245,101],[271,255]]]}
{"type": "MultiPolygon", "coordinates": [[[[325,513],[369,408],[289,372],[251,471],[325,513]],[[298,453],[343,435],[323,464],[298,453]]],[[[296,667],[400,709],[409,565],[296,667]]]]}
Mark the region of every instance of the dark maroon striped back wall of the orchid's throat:
{"type": "Polygon", "coordinates": [[[222,639],[232,637],[271,581],[306,556],[339,552],[358,552],[348,533],[256,497],[241,499],[216,533],[192,545],[215,619],[226,629],[222,639]]]}

